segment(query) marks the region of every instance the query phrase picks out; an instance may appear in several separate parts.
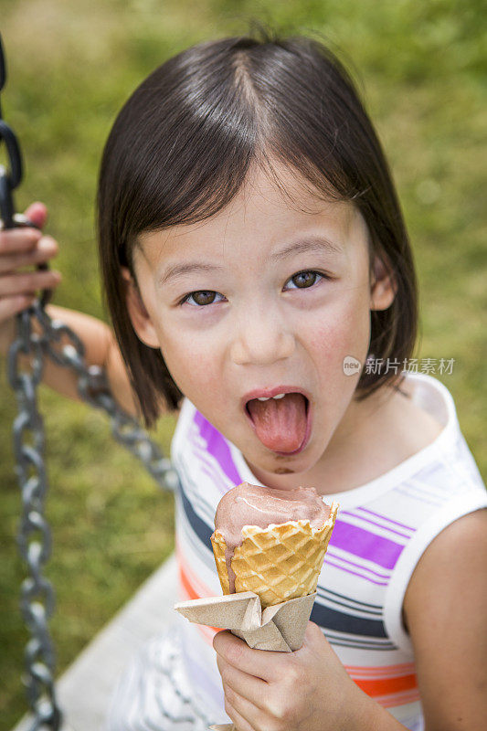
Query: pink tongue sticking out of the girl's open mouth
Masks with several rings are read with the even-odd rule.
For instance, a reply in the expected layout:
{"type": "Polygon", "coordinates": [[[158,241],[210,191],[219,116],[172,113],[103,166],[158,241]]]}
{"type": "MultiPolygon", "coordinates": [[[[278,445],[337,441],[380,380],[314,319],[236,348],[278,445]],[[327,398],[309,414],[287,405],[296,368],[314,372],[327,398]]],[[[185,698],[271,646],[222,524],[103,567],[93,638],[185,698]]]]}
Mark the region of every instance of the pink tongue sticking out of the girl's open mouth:
{"type": "Polygon", "coordinates": [[[294,451],[306,434],[306,399],[302,394],[249,401],[249,412],[259,440],[274,451],[294,451]]]}

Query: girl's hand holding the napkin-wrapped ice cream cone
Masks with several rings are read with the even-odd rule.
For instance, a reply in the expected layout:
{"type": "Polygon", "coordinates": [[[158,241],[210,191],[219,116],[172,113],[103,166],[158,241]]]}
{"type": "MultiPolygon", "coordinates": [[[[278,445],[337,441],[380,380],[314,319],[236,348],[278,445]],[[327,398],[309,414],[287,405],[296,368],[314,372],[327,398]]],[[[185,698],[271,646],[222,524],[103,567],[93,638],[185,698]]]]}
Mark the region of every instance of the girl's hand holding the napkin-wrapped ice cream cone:
{"type": "Polygon", "coordinates": [[[350,679],[313,622],[308,622],[302,648],[296,652],[252,650],[228,630],[217,632],[213,647],[225,710],[238,731],[373,727],[369,726],[373,702],[350,679]]]}

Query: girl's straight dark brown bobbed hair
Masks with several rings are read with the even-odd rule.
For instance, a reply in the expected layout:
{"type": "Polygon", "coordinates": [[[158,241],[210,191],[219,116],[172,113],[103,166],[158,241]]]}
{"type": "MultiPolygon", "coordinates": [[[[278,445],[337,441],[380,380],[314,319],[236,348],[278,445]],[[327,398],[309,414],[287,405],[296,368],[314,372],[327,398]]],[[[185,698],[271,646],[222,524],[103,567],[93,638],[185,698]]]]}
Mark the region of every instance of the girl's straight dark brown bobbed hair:
{"type": "MultiPolygon", "coordinates": [[[[140,234],[216,214],[236,196],[251,164],[272,175],[271,158],[326,199],[353,201],[369,231],[370,260],[383,260],[397,289],[388,309],[371,312],[369,355],[397,359],[400,367],[412,355],[418,304],[408,234],[355,84],[321,41],[259,27],[169,58],[132,93],[104,148],[98,191],[104,290],[147,426],[161,396],[174,409],[183,395],[160,351],[132,328],[120,267],[135,280],[132,251],[140,234]]],[[[392,371],[364,368],[355,397],[391,381],[397,381],[392,371]]]]}

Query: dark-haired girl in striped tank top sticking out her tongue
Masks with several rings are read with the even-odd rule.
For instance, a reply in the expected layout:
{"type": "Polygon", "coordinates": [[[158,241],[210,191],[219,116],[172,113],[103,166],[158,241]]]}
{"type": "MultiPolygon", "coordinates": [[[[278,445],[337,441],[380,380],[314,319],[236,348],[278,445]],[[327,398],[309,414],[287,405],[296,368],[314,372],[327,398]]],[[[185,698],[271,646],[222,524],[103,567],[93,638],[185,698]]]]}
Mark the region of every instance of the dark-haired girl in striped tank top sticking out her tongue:
{"type": "MultiPolygon", "coordinates": [[[[408,370],[408,235],[344,67],[307,37],[169,59],[113,125],[98,212],[115,337],[48,311],[148,426],[180,411],[181,598],[220,593],[209,535],[231,486],[312,485],[341,504],[301,650],[181,620],[122,677],[109,727],[481,728],[487,495],[449,391],[408,370]]],[[[0,245],[5,349],[12,315],[58,275],[15,271],[54,256],[37,231],[0,245]]],[[[45,377],[76,396],[55,365],[45,377]]]]}

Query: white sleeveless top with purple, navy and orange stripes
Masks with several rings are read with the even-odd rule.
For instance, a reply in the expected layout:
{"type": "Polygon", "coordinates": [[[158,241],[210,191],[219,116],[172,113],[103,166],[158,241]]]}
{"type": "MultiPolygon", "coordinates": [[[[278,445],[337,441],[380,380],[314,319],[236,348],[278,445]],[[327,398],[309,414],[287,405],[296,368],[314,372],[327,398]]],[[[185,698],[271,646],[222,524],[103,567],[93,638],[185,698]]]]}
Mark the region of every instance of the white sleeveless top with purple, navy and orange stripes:
{"type": "MultiPolygon", "coordinates": [[[[409,729],[423,727],[411,642],[401,621],[408,580],[429,542],[463,514],[487,506],[449,390],[408,374],[413,400],[443,426],[424,449],[376,480],[325,495],[340,511],[319,577],[311,619],[350,677],[409,729]]],[[[179,599],[221,595],[210,544],[221,496],[239,482],[261,484],[242,453],[184,400],[172,442],[179,599]]],[[[212,639],[215,630],[179,621],[190,695],[216,723],[228,717],[212,639]]]]}

